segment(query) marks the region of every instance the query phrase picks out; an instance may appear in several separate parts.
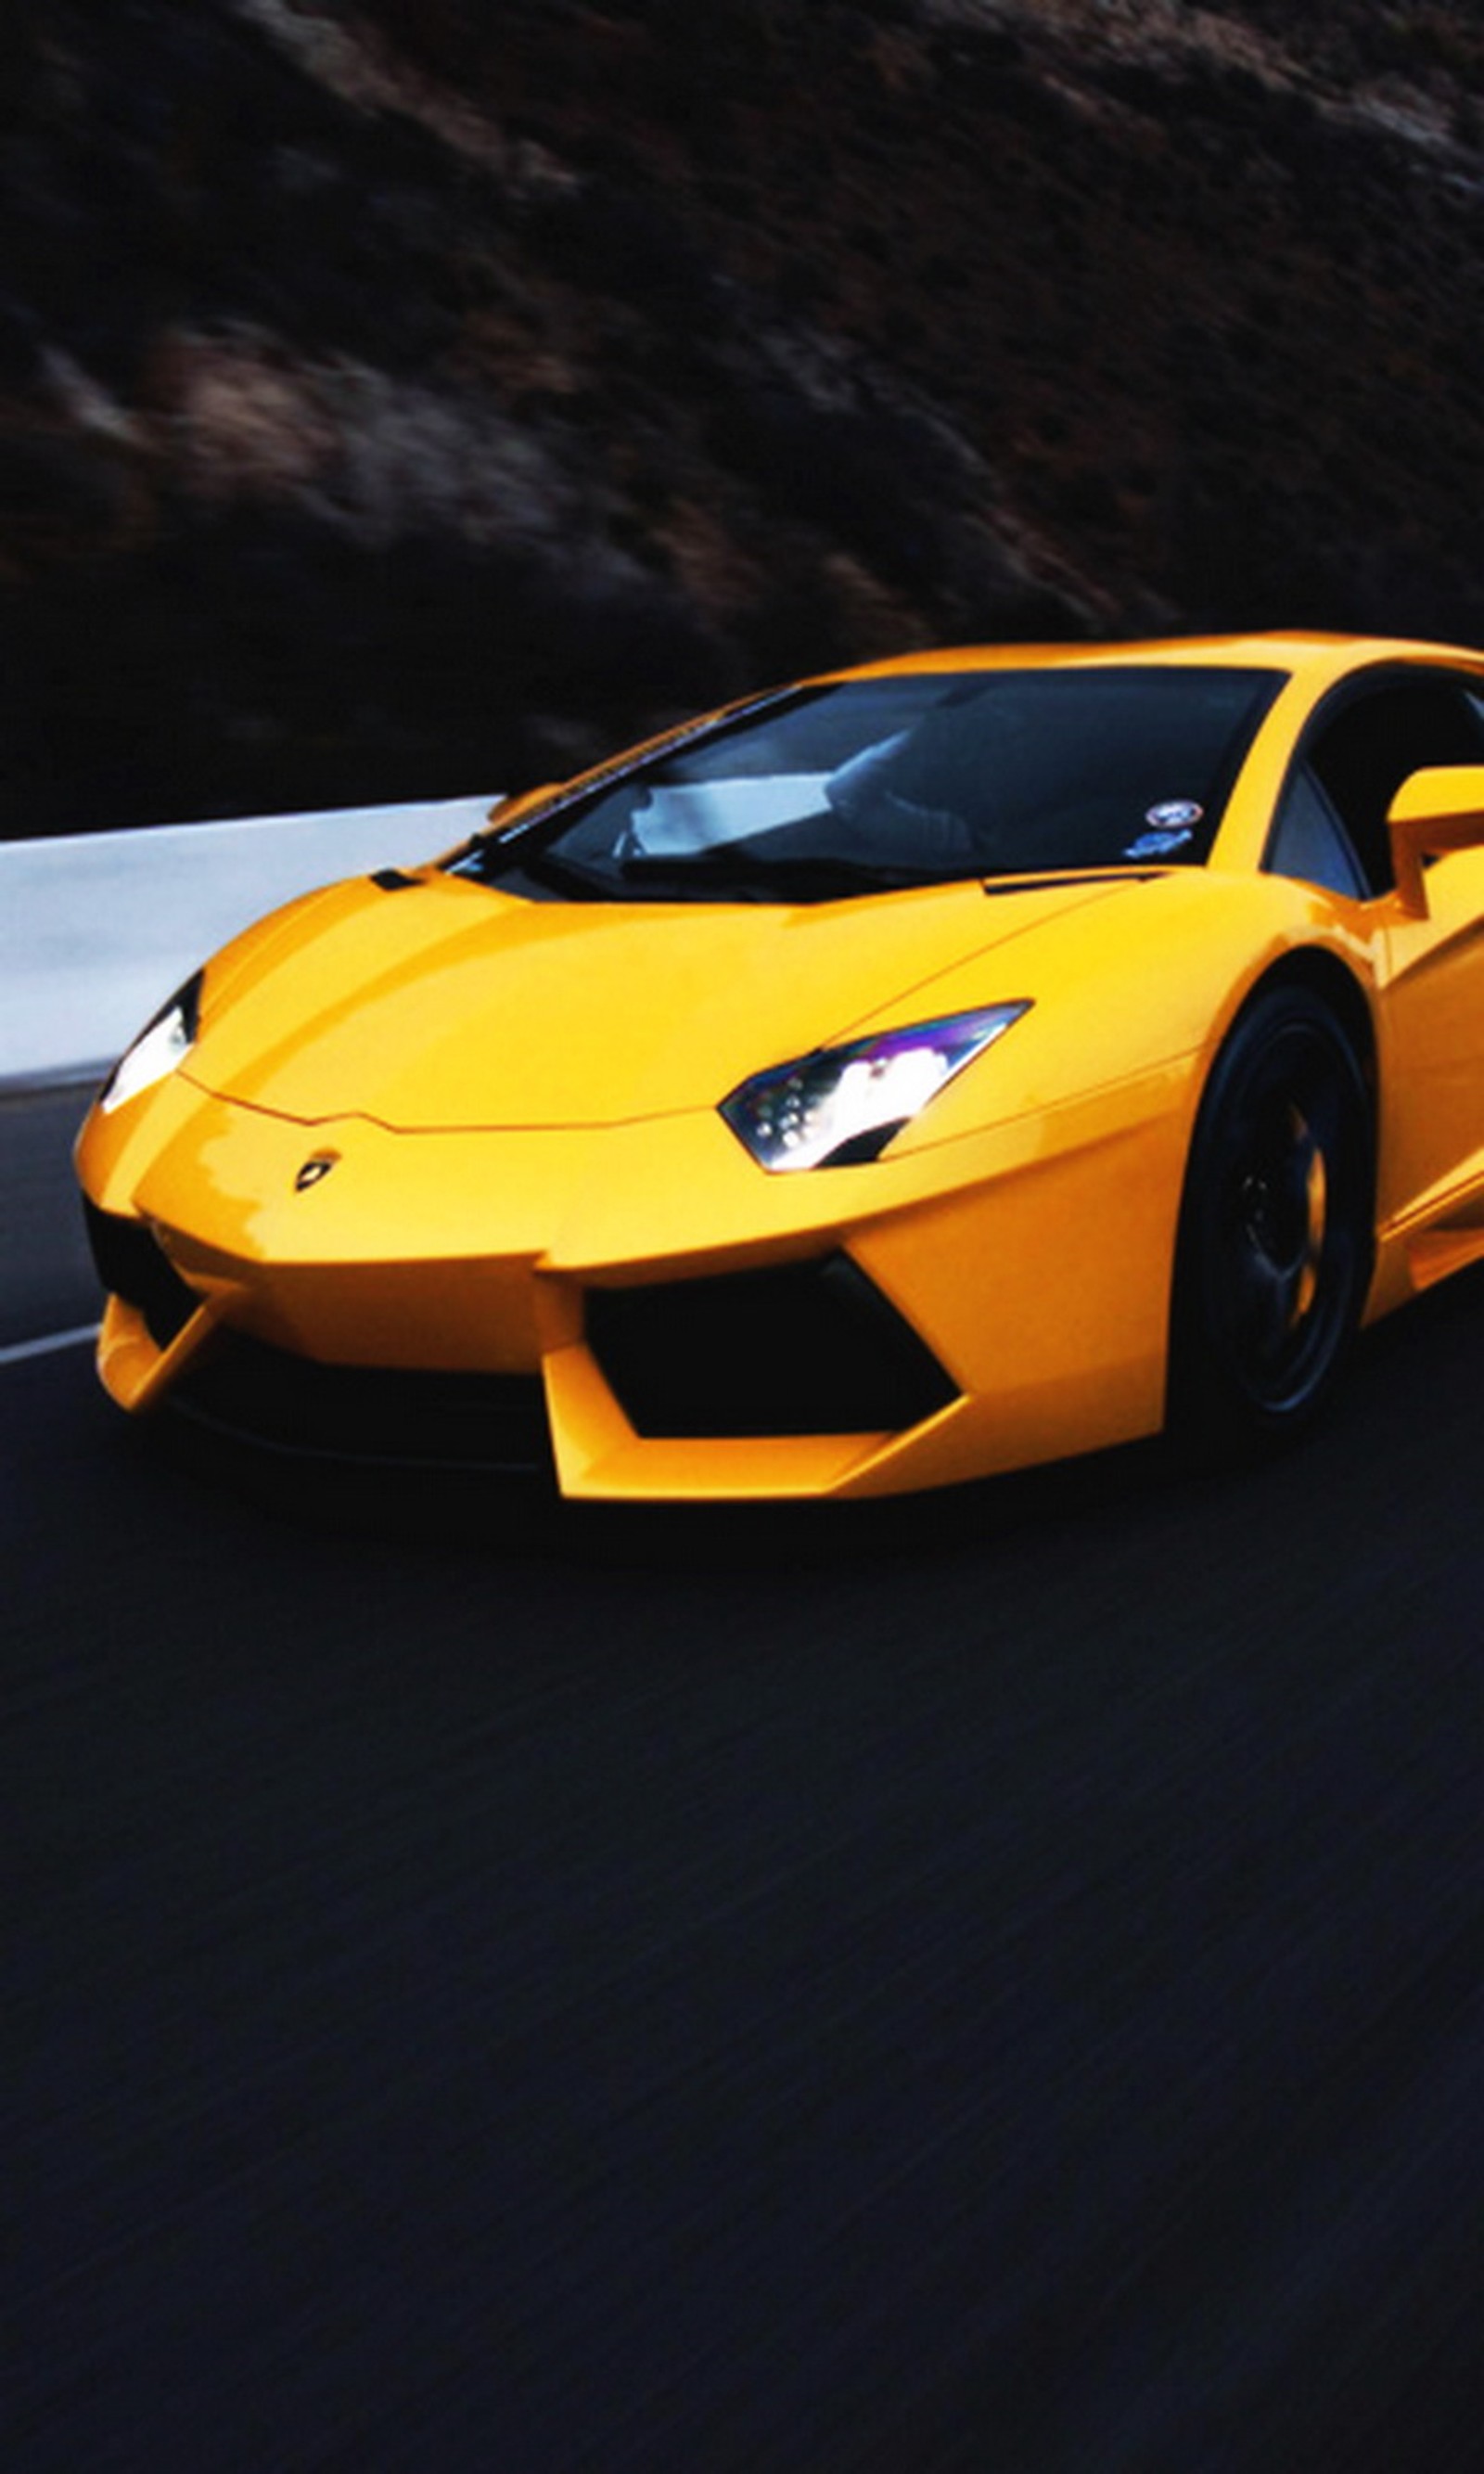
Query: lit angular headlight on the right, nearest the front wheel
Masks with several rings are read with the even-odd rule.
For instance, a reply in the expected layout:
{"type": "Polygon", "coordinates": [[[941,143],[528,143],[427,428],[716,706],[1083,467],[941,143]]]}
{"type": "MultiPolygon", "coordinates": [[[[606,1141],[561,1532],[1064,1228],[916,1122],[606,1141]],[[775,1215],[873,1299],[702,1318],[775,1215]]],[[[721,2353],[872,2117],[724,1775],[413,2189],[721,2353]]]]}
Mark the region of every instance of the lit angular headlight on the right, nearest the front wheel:
{"type": "Polygon", "coordinates": [[[1004,1037],[1029,1004],[873,1032],[754,1074],[722,1116],[762,1168],[848,1168],[876,1160],[945,1084],[1004,1037]]]}

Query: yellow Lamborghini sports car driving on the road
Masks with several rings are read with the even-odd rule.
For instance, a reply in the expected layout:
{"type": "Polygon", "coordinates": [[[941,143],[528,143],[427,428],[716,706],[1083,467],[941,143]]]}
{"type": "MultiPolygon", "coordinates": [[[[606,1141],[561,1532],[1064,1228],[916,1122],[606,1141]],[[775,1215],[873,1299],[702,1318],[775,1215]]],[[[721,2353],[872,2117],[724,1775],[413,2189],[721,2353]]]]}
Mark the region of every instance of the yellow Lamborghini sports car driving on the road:
{"type": "Polygon", "coordinates": [[[1484,656],[754,698],[247,930],[79,1173],[111,1395],[287,1452],[863,1497],[1284,1437],[1484,1254],[1484,656]]]}

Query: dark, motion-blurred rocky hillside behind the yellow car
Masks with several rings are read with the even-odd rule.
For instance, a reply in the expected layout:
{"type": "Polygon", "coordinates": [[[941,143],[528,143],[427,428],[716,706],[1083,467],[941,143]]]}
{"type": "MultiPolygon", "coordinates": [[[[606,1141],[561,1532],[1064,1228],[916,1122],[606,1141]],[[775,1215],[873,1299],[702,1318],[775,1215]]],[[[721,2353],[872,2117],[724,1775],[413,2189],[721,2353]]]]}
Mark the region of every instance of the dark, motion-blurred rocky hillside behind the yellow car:
{"type": "Polygon", "coordinates": [[[1484,636],[1472,7],[52,0],[0,92],[0,831],[1484,636]]]}

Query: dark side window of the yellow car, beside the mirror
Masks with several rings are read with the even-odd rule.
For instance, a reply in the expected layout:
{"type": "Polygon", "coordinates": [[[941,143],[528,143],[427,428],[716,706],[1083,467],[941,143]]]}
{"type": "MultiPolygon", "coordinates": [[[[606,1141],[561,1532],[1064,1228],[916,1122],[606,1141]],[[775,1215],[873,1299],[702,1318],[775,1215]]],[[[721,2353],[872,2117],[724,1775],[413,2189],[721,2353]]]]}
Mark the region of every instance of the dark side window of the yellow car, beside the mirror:
{"type": "MultiPolygon", "coordinates": [[[[1303,804],[1298,784],[1311,774],[1343,829],[1363,891],[1385,893],[1395,883],[1388,809],[1407,774],[1422,764],[1484,764],[1484,720],[1459,678],[1437,670],[1412,670],[1402,678],[1392,673],[1358,695],[1345,693],[1333,717],[1321,715],[1301,764],[1289,777],[1269,866],[1286,876],[1308,873],[1274,854],[1284,839],[1289,802],[1303,804]]],[[[1308,829],[1311,811],[1308,826],[1301,819],[1291,831],[1303,841],[1308,829]]],[[[1331,878],[1321,876],[1316,883],[1331,878]]]]}

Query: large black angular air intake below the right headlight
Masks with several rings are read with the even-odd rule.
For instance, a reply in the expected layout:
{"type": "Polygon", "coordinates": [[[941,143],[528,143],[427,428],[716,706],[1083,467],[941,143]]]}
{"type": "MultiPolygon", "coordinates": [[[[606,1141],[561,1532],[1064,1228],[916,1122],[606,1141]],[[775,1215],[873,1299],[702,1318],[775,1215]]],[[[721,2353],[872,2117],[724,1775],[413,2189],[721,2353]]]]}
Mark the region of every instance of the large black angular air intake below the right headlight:
{"type": "Polygon", "coordinates": [[[848,1254],[589,1289],[586,1338],[638,1435],[878,1435],[957,1398],[848,1254]]]}

